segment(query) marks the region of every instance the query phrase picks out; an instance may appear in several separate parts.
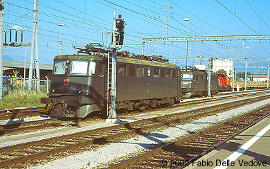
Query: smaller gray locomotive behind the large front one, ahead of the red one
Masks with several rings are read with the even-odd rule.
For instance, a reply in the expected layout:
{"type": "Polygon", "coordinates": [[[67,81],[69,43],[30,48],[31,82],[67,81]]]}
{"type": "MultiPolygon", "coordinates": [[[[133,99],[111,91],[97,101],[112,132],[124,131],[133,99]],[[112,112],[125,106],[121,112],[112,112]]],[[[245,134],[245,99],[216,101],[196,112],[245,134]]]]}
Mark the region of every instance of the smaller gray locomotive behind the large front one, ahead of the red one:
{"type": "MultiPolygon", "coordinates": [[[[196,68],[186,68],[181,70],[182,84],[181,91],[183,98],[190,96],[205,96],[208,92],[208,72],[196,68]]],[[[218,75],[211,73],[210,93],[217,94],[218,92],[218,75]]]]}

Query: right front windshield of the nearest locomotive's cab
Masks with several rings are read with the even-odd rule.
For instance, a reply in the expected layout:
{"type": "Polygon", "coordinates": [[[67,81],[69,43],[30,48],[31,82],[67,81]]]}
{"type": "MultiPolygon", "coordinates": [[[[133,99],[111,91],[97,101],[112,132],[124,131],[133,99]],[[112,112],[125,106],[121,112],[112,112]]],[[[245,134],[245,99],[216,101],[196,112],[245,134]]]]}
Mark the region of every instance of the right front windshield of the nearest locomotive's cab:
{"type": "MultiPolygon", "coordinates": [[[[91,64],[91,66],[93,66],[93,64],[91,64]]],[[[96,69],[96,63],[94,66],[96,69]]],[[[71,61],[71,74],[73,74],[73,75],[86,75],[87,69],[88,69],[88,61],[87,60],[73,60],[73,61],[71,61]]]]}

